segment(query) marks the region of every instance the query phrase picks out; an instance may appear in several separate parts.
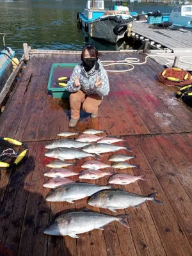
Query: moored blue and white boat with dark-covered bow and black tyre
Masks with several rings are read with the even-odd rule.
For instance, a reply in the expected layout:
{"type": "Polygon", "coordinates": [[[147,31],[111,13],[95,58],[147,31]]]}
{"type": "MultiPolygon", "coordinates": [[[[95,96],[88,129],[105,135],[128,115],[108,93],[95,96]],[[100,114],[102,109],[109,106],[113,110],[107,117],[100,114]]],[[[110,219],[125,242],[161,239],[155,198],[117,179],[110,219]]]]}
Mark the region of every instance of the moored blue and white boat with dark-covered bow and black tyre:
{"type": "Polygon", "coordinates": [[[132,17],[127,2],[116,1],[114,10],[109,11],[104,8],[104,0],[88,0],[84,12],[77,13],[77,20],[92,38],[116,44],[124,38],[132,17]]]}

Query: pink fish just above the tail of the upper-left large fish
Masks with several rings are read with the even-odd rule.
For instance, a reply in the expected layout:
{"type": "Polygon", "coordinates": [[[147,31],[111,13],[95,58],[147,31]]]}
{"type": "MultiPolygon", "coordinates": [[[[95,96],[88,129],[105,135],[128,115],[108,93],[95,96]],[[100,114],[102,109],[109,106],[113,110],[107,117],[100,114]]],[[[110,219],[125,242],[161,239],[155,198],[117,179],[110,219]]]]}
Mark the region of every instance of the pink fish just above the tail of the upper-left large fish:
{"type": "Polygon", "coordinates": [[[106,175],[112,175],[113,172],[104,172],[96,169],[87,169],[79,173],[79,179],[96,180],[106,175]]]}

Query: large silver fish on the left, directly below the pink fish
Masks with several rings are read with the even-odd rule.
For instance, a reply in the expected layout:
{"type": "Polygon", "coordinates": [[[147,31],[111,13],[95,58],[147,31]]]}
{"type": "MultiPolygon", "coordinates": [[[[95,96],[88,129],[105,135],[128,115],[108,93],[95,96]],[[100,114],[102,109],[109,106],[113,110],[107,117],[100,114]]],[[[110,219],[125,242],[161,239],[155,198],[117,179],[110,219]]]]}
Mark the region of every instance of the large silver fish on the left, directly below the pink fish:
{"type": "Polygon", "coordinates": [[[110,188],[111,186],[99,186],[89,183],[71,183],[52,189],[45,199],[49,202],[74,203],[74,200],[91,196],[102,189],[110,188]]]}

